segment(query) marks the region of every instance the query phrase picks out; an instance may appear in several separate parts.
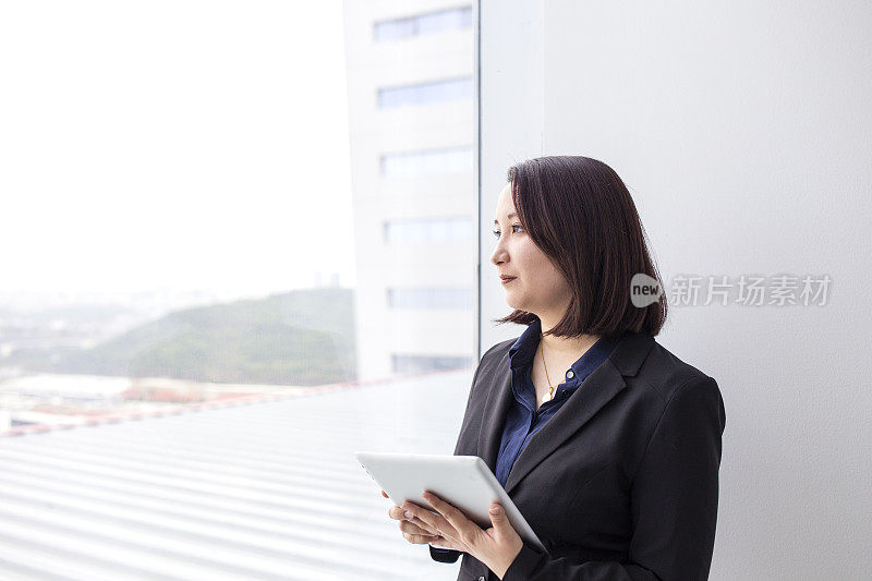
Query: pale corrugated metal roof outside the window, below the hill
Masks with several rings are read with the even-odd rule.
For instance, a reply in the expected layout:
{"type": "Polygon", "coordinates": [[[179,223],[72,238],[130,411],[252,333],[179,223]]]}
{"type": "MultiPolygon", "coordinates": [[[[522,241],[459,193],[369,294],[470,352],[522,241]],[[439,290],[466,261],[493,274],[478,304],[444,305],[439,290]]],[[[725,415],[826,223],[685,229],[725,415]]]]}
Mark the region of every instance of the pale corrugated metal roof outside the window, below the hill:
{"type": "Polygon", "coordinates": [[[0,438],[0,579],[453,580],[353,452],[451,453],[471,376],[0,438]]]}

